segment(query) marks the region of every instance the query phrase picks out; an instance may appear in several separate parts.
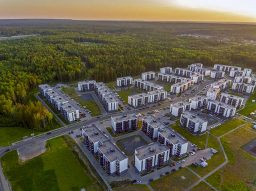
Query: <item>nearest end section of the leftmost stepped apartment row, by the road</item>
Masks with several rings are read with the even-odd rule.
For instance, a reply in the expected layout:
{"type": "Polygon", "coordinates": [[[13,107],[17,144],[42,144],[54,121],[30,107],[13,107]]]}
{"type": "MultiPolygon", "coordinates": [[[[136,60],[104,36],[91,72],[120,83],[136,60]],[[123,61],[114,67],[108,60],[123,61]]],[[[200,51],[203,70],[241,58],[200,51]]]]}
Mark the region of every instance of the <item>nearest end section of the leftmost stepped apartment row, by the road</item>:
{"type": "Polygon", "coordinates": [[[72,106],[72,104],[65,101],[61,103],[61,115],[69,123],[79,120],[79,110],[72,106]]]}

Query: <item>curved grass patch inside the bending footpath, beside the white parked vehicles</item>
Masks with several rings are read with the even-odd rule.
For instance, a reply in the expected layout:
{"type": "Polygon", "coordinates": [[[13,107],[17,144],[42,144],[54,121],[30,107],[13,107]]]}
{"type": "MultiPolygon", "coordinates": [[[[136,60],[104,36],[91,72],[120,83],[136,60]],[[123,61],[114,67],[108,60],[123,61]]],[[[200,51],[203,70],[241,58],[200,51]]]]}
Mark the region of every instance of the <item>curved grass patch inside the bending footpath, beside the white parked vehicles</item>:
{"type": "Polygon", "coordinates": [[[223,162],[225,162],[225,157],[222,152],[222,148],[220,146],[218,138],[210,134],[207,147],[214,148],[218,151],[218,153],[211,156],[211,159],[206,161],[208,163],[208,166],[207,167],[202,167],[200,165],[198,167],[194,167],[192,165],[189,166],[190,169],[195,171],[195,173],[199,174],[200,176],[205,176],[206,174],[216,169],[216,167],[220,166],[223,162]]]}

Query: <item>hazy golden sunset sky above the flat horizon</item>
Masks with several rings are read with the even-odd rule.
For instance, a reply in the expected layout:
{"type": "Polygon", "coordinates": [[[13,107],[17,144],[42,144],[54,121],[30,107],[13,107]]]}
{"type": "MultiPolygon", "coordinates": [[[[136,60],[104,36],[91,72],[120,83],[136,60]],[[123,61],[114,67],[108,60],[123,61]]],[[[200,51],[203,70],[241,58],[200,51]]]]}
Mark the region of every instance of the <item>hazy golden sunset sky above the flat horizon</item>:
{"type": "Polygon", "coordinates": [[[0,0],[0,19],[256,22],[255,0],[0,0]]]}

